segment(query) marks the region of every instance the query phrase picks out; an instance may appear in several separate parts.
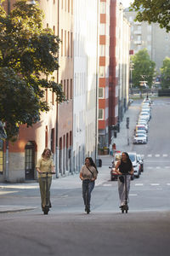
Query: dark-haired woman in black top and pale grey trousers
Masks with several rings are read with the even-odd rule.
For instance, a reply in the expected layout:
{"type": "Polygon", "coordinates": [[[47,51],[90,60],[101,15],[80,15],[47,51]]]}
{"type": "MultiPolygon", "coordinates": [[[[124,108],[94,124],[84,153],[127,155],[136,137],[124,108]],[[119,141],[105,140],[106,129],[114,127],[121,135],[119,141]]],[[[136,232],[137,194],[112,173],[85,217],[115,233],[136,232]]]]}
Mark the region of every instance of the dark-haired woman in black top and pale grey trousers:
{"type": "Polygon", "coordinates": [[[121,201],[121,208],[125,205],[125,184],[122,174],[127,174],[127,197],[130,190],[131,175],[133,175],[133,164],[127,152],[122,152],[122,158],[116,163],[115,172],[120,175],[118,177],[118,191],[121,201]],[[128,175],[129,174],[129,175],[128,175]]]}

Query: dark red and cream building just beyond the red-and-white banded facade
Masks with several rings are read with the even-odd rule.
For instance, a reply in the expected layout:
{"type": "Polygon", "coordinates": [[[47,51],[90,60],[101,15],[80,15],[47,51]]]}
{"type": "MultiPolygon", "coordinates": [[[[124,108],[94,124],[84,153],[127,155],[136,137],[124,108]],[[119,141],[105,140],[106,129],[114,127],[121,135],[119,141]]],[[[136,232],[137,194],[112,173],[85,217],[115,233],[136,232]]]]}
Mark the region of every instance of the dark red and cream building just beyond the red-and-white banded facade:
{"type": "Polygon", "coordinates": [[[130,24],[123,17],[122,3],[111,0],[109,142],[127,110],[129,90],[130,24]]]}

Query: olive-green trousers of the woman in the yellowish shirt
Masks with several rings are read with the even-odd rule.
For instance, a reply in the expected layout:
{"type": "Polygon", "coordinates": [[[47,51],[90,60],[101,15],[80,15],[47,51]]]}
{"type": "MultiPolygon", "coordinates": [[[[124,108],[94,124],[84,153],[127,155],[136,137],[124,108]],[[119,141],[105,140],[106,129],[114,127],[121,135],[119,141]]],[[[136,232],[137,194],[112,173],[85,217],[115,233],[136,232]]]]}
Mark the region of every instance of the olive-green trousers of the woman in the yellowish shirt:
{"type": "Polygon", "coordinates": [[[42,207],[46,205],[50,206],[50,187],[51,187],[52,177],[48,177],[48,191],[47,191],[47,201],[46,201],[46,183],[47,177],[39,177],[39,186],[42,199],[42,207]]]}

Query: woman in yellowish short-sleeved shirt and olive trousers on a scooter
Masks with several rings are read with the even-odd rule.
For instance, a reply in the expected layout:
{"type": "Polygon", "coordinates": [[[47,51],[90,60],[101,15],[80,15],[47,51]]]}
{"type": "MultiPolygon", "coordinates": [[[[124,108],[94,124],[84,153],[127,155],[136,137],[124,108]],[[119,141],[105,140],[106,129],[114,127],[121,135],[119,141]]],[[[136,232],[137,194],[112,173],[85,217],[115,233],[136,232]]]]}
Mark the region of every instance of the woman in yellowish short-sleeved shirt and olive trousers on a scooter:
{"type": "Polygon", "coordinates": [[[45,148],[42,153],[41,159],[37,161],[37,172],[38,172],[38,181],[42,199],[42,211],[44,210],[46,204],[48,207],[51,207],[50,201],[50,187],[52,182],[51,173],[48,174],[48,191],[47,191],[47,202],[46,202],[46,173],[44,172],[54,172],[54,161],[51,158],[51,150],[49,148],[45,148]]]}

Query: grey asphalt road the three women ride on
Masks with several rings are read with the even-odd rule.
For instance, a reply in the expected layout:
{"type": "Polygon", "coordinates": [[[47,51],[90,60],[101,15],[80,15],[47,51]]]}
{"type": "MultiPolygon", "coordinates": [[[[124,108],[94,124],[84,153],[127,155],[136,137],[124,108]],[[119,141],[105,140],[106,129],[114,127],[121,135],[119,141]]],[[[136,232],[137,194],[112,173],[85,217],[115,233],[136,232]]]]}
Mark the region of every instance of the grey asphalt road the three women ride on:
{"type": "Polygon", "coordinates": [[[89,215],[83,212],[82,190],[77,185],[53,187],[53,208],[48,216],[42,215],[39,207],[36,183],[33,189],[3,189],[1,203],[26,201],[28,206],[38,207],[0,214],[2,255],[168,255],[169,108],[170,99],[154,101],[149,142],[133,145],[133,151],[144,155],[144,172],[131,183],[127,214],[119,211],[117,183],[110,181],[107,168],[103,181],[93,191],[89,215]]]}

